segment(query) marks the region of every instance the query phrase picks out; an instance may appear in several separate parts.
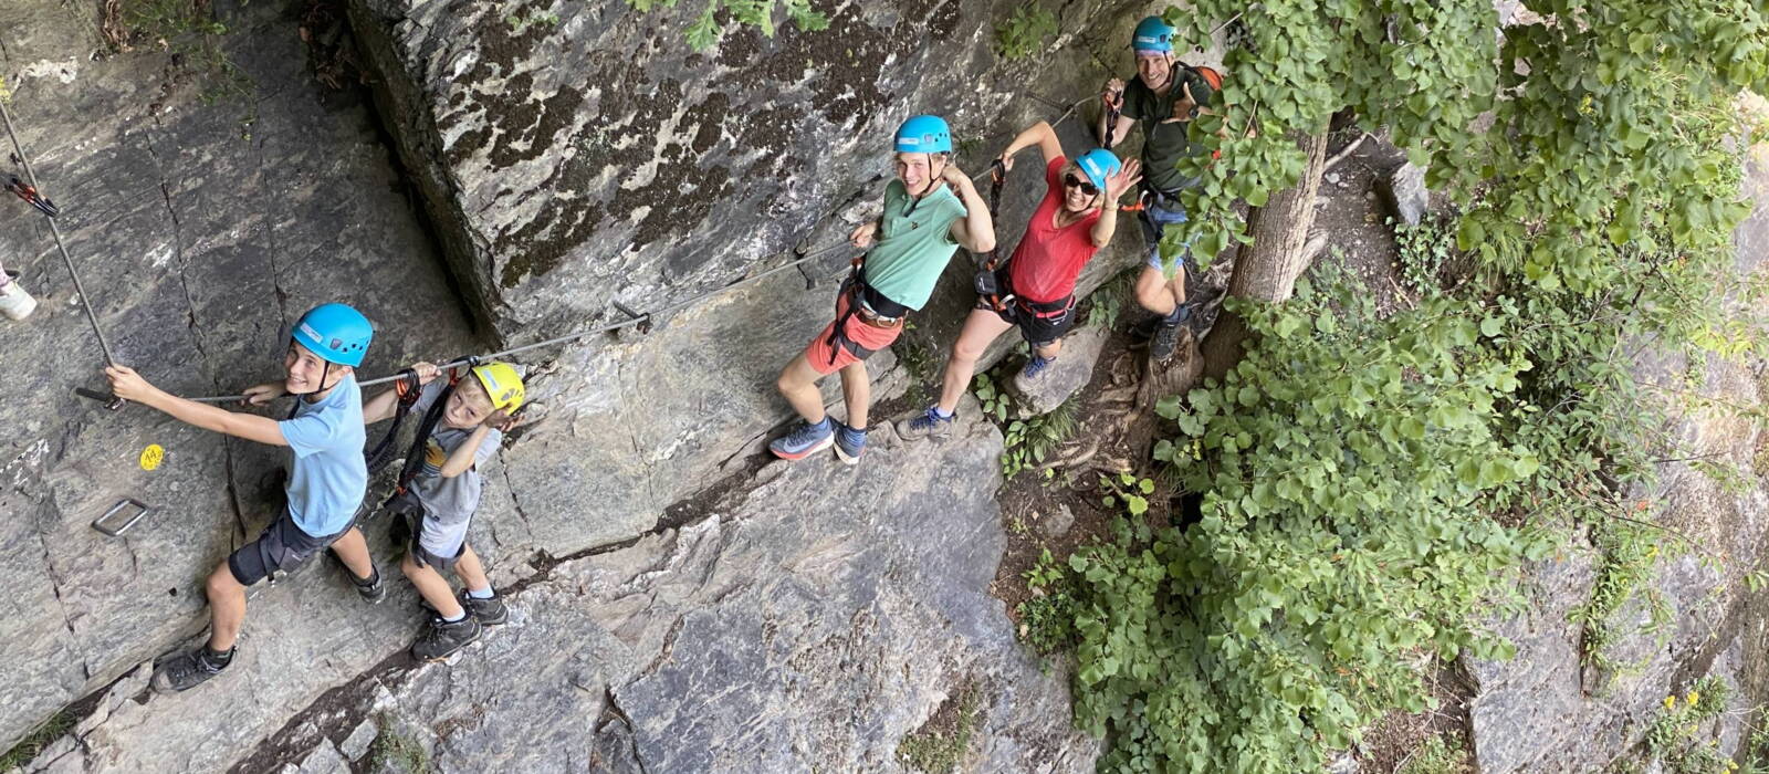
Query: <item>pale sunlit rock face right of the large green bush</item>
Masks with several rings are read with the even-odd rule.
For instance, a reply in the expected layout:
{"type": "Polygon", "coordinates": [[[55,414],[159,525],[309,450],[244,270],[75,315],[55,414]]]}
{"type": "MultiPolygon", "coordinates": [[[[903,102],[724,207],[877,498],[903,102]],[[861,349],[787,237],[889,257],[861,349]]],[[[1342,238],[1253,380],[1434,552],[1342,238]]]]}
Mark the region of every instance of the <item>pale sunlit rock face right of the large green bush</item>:
{"type": "MultiPolygon", "coordinates": [[[[1748,168],[1748,191],[1769,196],[1769,150],[1758,148],[1748,168]]],[[[1737,269],[1762,272],[1769,249],[1769,212],[1758,212],[1737,233],[1737,269]]],[[[1668,383],[1689,373],[1681,359],[1643,357],[1645,378],[1668,383]]],[[[1711,359],[1698,387],[1718,406],[1769,405],[1764,364],[1711,359]]],[[[1624,604],[1608,629],[1619,638],[1612,659],[1627,664],[1601,673],[1583,663],[1581,627],[1567,615],[1590,599],[1601,557],[1567,551],[1530,573],[1530,610],[1497,624],[1518,645],[1507,663],[1465,663],[1479,686],[1472,703],[1472,740],[1481,772],[1610,770],[1633,751],[1665,696],[1698,677],[1721,675],[1742,693],[1735,707],[1758,700],[1769,686],[1762,631],[1769,590],[1751,590],[1746,576],[1769,548],[1769,431],[1730,408],[1689,408],[1673,414],[1679,449],[1742,470],[1737,488],[1714,481],[1689,461],[1663,463],[1656,491],[1629,495],[1652,505],[1665,527],[1666,553],[1643,583],[1668,606],[1670,624],[1656,631],[1647,604],[1624,604]]],[[[1737,721],[1723,728],[1723,753],[1739,749],[1737,721]]]]}

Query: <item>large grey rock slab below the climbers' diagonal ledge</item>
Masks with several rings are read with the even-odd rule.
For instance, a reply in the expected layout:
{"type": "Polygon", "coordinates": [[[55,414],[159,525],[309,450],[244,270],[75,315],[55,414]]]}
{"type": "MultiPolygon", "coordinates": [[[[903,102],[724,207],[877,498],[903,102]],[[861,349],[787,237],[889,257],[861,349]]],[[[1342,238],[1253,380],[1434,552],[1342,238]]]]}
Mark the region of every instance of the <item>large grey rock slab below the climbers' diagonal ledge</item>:
{"type": "MultiPolygon", "coordinates": [[[[1040,673],[989,596],[1001,436],[973,419],[952,440],[929,451],[884,431],[858,468],[773,463],[679,528],[547,569],[460,656],[340,684],[234,770],[331,770],[311,767],[361,749],[363,717],[442,772],[902,770],[900,740],[961,686],[982,696],[966,770],[1091,770],[1097,742],[1070,728],[1063,679],[1040,673]]],[[[262,687],[226,673],[203,691],[126,702],[67,755],[88,770],[225,765],[140,756],[237,723],[189,702],[239,707],[262,687]]]]}

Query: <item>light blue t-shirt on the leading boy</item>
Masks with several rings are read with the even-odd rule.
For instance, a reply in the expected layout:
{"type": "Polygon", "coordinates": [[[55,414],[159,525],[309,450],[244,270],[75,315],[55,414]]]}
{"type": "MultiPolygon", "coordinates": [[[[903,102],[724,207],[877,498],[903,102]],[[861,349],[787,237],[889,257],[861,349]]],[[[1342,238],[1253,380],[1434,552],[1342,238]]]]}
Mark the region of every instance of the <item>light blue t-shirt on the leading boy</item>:
{"type": "Polygon", "coordinates": [[[318,403],[295,398],[295,419],[276,422],[295,461],[288,474],[288,516],[313,537],[343,532],[368,493],[363,459],[363,391],[345,376],[318,403]]]}

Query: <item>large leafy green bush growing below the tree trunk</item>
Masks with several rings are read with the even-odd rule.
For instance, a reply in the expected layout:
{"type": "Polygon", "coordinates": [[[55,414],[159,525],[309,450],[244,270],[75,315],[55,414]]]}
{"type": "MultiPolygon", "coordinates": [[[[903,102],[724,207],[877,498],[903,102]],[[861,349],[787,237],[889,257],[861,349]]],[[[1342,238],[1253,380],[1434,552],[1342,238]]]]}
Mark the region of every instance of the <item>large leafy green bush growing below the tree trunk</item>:
{"type": "MultiPolygon", "coordinates": [[[[1525,364],[1488,348],[1475,300],[1382,318],[1330,279],[1235,302],[1260,334],[1245,360],[1157,406],[1185,438],[1157,458],[1201,456],[1176,472],[1203,518],[1070,558],[1102,770],[1318,770],[1385,709],[1428,707],[1410,654],[1511,652],[1475,620],[1550,544],[1481,504],[1539,468],[1489,429],[1525,364]]],[[[1132,512],[1152,488],[1106,484],[1132,512]]]]}

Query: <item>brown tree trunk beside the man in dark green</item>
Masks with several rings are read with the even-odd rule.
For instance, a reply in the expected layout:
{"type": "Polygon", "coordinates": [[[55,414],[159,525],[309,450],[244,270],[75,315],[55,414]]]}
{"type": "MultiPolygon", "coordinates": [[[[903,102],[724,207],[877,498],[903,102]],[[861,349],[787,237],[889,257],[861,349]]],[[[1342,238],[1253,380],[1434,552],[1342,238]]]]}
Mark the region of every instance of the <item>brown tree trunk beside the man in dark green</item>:
{"type": "MultiPolygon", "coordinates": [[[[1290,299],[1297,277],[1314,258],[1309,230],[1314,226],[1314,191],[1321,186],[1321,168],[1327,161],[1327,133],[1302,134],[1297,147],[1307,154],[1309,166],[1293,187],[1274,193],[1265,207],[1247,216],[1247,233],[1252,244],[1235,258],[1235,274],[1228,281],[1228,295],[1238,299],[1279,302],[1290,299]]],[[[1249,336],[1247,323],[1222,307],[1222,315],[1205,338],[1205,376],[1222,378],[1240,362],[1249,336]]]]}

